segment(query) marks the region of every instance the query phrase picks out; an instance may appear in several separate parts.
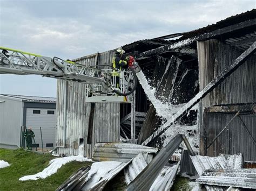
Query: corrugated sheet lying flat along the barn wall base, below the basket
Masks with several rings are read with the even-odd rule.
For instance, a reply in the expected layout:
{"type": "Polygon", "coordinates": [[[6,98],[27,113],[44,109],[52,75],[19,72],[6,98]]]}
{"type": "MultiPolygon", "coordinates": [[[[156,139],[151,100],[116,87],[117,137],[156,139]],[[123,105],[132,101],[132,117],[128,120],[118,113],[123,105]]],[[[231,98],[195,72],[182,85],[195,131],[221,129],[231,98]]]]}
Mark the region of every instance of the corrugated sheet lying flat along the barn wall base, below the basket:
{"type": "Polygon", "coordinates": [[[96,161],[127,162],[137,154],[156,153],[157,148],[127,143],[97,143],[93,147],[92,159],[96,161]]]}

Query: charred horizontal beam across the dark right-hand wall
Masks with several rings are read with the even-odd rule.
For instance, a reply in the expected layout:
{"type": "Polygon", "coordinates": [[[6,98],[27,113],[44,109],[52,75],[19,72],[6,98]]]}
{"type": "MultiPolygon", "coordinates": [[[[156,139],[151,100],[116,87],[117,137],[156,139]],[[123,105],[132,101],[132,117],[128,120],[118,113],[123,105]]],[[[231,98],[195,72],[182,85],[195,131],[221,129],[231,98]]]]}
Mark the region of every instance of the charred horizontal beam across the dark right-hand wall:
{"type": "Polygon", "coordinates": [[[242,105],[218,105],[205,108],[205,112],[256,112],[256,103],[242,105]]]}

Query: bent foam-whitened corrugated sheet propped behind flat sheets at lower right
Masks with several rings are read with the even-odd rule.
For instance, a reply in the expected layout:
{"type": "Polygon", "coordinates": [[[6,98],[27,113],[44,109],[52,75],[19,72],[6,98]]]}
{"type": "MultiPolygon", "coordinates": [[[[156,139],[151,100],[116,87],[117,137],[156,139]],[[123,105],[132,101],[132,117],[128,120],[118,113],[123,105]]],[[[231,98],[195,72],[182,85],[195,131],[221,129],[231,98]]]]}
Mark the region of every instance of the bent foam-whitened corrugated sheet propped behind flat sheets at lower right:
{"type": "Polygon", "coordinates": [[[240,169],[242,168],[242,154],[220,154],[218,157],[191,156],[194,167],[199,176],[207,169],[240,169]]]}

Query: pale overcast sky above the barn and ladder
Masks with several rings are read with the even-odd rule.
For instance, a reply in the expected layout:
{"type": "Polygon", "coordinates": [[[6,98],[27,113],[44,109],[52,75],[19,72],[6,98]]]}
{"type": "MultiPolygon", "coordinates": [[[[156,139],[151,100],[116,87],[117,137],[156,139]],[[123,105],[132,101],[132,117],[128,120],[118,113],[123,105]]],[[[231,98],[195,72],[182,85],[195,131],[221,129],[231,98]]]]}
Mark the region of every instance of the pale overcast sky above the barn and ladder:
{"type": "MultiPolygon", "coordinates": [[[[255,8],[243,1],[0,0],[0,46],[75,59],[186,32],[255,8]]],[[[0,75],[0,94],[56,96],[57,80],[0,75]]]]}

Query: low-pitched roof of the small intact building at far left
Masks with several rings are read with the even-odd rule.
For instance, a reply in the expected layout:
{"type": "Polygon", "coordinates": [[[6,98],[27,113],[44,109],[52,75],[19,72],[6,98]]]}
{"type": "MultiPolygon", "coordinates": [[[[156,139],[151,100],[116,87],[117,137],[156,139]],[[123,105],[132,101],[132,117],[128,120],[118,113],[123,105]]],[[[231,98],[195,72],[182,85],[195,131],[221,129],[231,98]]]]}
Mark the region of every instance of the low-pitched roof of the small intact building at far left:
{"type": "Polygon", "coordinates": [[[56,97],[40,97],[40,96],[25,96],[25,95],[11,95],[11,94],[0,94],[0,95],[18,98],[26,102],[56,103],[56,97]]]}

